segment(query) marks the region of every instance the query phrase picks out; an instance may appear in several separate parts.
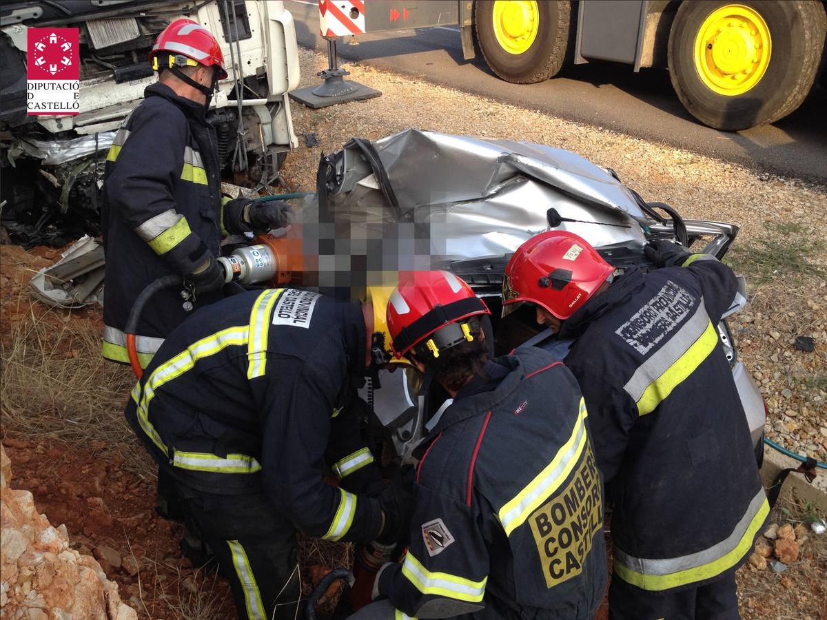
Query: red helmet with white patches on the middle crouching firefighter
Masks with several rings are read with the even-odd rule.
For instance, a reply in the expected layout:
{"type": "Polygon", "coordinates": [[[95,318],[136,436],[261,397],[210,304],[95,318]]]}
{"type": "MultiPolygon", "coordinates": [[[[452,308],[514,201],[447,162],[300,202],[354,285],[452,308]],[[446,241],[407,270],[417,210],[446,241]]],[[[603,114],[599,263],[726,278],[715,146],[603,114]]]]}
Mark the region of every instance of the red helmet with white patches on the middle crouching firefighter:
{"type": "Polygon", "coordinates": [[[449,271],[401,274],[388,301],[388,331],[399,357],[414,349],[418,355],[472,341],[469,317],[490,314],[471,287],[449,271]]]}

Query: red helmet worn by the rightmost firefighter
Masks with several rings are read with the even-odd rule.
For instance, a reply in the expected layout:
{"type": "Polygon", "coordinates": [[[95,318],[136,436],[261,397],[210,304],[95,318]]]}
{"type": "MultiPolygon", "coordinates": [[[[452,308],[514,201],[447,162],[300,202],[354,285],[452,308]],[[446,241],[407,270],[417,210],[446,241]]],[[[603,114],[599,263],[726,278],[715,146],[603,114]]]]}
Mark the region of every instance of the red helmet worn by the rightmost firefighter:
{"type": "Polygon", "coordinates": [[[506,305],[529,302],[565,321],[613,272],[614,267],[582,237],[543,232],[519,246],[505,268],[503,313],[508,313],[506,305]]]}

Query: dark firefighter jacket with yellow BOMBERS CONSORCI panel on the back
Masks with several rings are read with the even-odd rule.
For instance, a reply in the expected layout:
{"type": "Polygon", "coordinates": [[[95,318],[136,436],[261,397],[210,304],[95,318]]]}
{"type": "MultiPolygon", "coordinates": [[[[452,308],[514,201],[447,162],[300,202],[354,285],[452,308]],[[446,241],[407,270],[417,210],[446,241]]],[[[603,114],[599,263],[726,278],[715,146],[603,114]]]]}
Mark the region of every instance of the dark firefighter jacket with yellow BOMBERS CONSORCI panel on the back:
{"type": "Polygon", "coordinates": [[[533,347],[485,370],[428,435],[409,551],[385,565],[379,593],[397,618],[594,618],[602,484],[580,390],[533,347]]]}

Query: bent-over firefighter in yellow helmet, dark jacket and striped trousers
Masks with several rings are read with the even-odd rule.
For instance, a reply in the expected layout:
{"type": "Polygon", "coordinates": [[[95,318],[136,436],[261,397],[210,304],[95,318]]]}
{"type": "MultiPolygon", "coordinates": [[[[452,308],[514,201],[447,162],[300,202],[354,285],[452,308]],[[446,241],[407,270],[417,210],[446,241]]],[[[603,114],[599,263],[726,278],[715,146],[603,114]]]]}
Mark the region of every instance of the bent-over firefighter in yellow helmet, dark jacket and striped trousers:
{"type": "Polygon", "coordinates": [[[369,290],[361,304],[267,289],[202,308],[131,393],[127,420],[174,479],[240,618],[297,613],[294,527],[330,541],[407,531],[410,494],[396,484],[372,496],[377,471],[351,411],[367,369],[394,362],[390,289],[369,290]]]}

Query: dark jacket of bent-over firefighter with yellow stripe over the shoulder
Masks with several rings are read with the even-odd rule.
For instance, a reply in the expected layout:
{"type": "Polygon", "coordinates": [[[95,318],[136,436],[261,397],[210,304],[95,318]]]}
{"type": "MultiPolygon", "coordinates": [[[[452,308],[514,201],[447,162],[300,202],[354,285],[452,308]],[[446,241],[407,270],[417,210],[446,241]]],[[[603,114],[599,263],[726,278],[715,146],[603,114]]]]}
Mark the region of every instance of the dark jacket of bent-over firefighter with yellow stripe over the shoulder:
{"type": "Polygon", "coordinates": [[[378,500],[347,490],[365,489],[377,473],[348,408],[365,370],[365,334],[358,303],[318,293],[222,299],[166,338],[132,390],[127,419],[180,484],[263,491],[312,537],[371,540],[378,500]],[[328,467],[339,487],[325,484],[328,467]]]}

